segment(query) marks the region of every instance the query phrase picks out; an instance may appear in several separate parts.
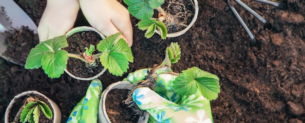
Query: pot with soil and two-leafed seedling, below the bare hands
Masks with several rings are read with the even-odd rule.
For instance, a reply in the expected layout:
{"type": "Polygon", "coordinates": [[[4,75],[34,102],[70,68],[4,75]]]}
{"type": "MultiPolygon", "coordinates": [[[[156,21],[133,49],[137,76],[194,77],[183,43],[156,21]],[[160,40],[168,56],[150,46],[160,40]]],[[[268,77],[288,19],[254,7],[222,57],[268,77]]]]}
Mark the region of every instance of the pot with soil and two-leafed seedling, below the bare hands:
{"type": "Polygon", "coordinates": [[[37,44],[31,49],[24,67],[41,66],[50,78],[59,78],[65,71],[75,79],[88,81],[107,69],[115,76],[122,76],[129,62],[133,62],[133,55],[127,42],[118,38],[120,35],[105,38],[93,27],[76,27],[66,35],[37,44]]]}

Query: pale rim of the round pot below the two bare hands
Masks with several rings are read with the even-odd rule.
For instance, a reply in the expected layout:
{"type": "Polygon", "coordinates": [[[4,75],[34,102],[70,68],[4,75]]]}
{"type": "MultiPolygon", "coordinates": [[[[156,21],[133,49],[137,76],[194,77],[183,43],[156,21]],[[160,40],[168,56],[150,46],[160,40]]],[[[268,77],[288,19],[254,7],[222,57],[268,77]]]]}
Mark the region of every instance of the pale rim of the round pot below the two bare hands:
{"type": "MultiPolygon", "coordinates": [[[[79,27],[75,27],[75,28],[71,29],[70,31],[68,31],[68,32],[66,33],[66,37],[69,37],[69,36],[71,36],[71,35],[73,35],[73,34],[75,34],[75,33],[77,33],[77,32],[84,32],[84,31],[94,31],[94,32],[98,33],[98,35],[99,35],[102,39],[105,39],[105,36],[104,36],[102,33],[100,33],[100,32],[97,31],[95,28],[90,27],[90,26],[79,26],[79,27]]],[[[71,77],[73,77],[73,78],[75,78],[75,79],[77,79],[77,80],[84,80],[84,81],[90,81],[90,80],[96,79],[96,78],[98,78],[99,76],[101,76],[101,75],[106,71],[106,69],[103,69],[101,72],[99,72],[98,74],[96,74],[96,75],[93,76],[93,77],[82,78],[82,77],[76,77],[74,74],[72,74],[71,72],[69,72],[69,71],[67,70],[67,68],[64,69],[64,70],[65,70],[65,72],[66,72],[69,76],[71,76],[71,77]]]]}

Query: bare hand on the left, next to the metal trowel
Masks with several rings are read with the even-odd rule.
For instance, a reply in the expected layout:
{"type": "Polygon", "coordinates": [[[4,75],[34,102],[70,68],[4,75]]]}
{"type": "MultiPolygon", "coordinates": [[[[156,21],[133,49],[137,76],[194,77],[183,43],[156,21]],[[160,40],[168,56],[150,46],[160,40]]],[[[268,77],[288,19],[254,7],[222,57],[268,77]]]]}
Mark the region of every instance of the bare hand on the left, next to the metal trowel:
{"type": "Polygon", "coordinates": [[[39,41],[64,35],[73,28],[78,10],[78,0],[48,0],[38,24],[39,41]]]}

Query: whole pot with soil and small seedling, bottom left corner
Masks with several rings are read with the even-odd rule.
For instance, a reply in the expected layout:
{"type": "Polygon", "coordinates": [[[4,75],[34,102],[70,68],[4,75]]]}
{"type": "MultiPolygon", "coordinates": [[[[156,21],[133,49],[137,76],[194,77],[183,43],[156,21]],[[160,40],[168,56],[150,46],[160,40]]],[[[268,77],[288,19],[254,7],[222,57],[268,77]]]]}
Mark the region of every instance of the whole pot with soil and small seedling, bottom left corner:
{"type": "Polygon", "coordinates": [[[61,113],[55,102],[37,91],[25,91],[9,103],[4,120],[5,123],[59,123],[60,119],[61,113]]]}

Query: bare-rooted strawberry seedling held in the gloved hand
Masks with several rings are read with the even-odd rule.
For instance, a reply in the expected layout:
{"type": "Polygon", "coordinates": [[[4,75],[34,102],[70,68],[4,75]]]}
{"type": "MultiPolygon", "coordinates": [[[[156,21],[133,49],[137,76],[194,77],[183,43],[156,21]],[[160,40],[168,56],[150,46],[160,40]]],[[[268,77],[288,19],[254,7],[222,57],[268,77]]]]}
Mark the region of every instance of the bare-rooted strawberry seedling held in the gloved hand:
{"type": "Polygon", "coordinates": [[[215,100],[220,92],[219,78],[211,73],[203,71],[198,67],[192,67],[182,73],[172,72],[172,63],[178,62],[181,51],[178,43],[171,43],[166,49],[166,56],[162,63],[154,65],[146,76],[145,80],[135,83],[135,87],[129,93],[126,104],[133,105],[132,94],[136,88],[149,87],[154,90],[157,76],[160,74],[171,74],[177,76],[173,81],[172,88],[178,95],[190,96],[197,90],[208,100],[215,100]]]}

